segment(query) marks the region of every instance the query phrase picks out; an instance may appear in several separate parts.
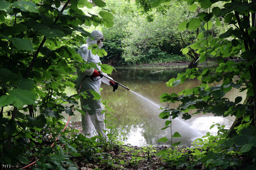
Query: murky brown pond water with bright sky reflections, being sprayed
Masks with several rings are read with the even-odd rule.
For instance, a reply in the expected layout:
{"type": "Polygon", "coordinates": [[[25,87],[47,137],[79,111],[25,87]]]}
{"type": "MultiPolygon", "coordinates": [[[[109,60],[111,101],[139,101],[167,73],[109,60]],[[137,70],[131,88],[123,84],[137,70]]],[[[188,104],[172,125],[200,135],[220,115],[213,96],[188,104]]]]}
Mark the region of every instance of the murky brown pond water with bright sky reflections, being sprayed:
{"type": "MultiPolygon", "coordinates": [[[[157,142],[162,137],[170,139],[170,128],[161,130],[165,127],[165,121],[159,117],[160,107],[166,107],[167,103],[160,103],[160,97],[163,93],[176,93],[187,88],[193,88],[200,84],[197,79],[186,80],[176,87],[167,87],[166,82],[175,78],[178,73],[186,69],[116,69],[110,75],[115,81],[128,87],[126,90],[122,87],[113,92],[112,87],[102,83],[101,100],[108,101],[108,107],[114,111],[113,117],[117,120],[114,124],[117,126],[120,137],[119,141],[133,146],[145,146],[148,144],[170,144],[169,142],[157,142]],[[161,72],[159,72],[161,71],[161,72]],[[156,73],[155,73],[156,72],[156,73]],[[135,92],[135,93],[133,93],[135,92]]],[[[76,93],[74,89],[69,89],[70,94],[76,93]]],[[[245,93],[240,96],[245,98],[245,93]]],[[[238,96],[238,90],[232,89],[225,97],[230,101],[235,101],[238,96]]],[[[243,101],[242,101],[243,102],[243,101]]],[[[179,103],[170,104],[170,108],[176,109],[179,103]]],[[[191,112],[192,114],[193,112],[191,112]]],[[[81,129],[81,114],[74,113],[71,116],[71,126],[81,129]]],[[[63,115],[68,120],[68,115],[63,115]]],[[[179,132],[181,137],[173,138],[173,143],[181,141],[181,146],[192,145],[196,138],[204,136],[207,132],[217,134],[217,127],[210,129],[214,123],[225,125],[228,129],[235,117],[214,117],[212,114],[192,115],[189,120],[182,120],[180,117],[172,120],[172,133],[179,132]],[[214,122],[214,123],[213,123],[214,122]]]]}

